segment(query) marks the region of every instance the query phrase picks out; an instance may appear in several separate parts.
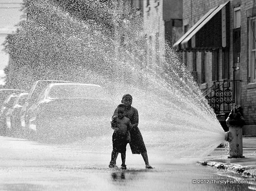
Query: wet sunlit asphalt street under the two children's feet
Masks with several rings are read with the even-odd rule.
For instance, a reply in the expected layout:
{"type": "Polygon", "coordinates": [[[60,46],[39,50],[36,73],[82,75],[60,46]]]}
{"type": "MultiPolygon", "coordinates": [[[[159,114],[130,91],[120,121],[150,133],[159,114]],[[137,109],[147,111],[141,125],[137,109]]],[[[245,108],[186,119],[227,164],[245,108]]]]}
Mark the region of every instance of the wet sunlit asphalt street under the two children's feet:
{"type": "MultiPolygon", "coordinates": [[[[101,140],[108,139],[100,137],[101,140]]],[[[164,163],[151,151],[155,169],[127,147],[128,170],[109,169],[111,144],[93,139],[55,145],[0,136],[0,191],[247,191],[254,180],[195,162],[164,163]],[[101,149],[96,150],[96,147],[101,149]],[[103,149],[102,149],[103,148],[103,149]]],[[[103,141],[104,142],[104,141],[103,141]]],[[[121,164],[120,156],[117,164],[121,164]]]]}

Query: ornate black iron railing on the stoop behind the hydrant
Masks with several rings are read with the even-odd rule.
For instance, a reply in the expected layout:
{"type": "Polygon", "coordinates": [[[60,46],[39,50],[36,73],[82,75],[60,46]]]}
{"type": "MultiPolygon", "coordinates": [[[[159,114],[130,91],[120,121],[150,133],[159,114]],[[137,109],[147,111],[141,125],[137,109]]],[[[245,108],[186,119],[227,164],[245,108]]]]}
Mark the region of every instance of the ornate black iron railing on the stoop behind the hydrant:
{"type": "Polygon", "coordinates": [[[216,114],[230,112],[234,102],[239,99],[241,80],[214,81],[214,84],[203,92],[209,105],[216,114]]]}

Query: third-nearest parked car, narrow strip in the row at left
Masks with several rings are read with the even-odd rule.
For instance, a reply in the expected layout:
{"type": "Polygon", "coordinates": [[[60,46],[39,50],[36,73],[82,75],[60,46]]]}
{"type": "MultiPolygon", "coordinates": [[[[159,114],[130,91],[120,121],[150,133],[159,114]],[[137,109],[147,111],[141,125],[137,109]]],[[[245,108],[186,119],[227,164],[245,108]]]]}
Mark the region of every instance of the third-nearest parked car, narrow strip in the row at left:
{"type": "Polygon", "coordinates": [[[18,94],[16,100],[13,102],[12,107],[9,108],[6,113],[6,127],[7,132],[10,135],[22,137],[20,112],[26,101],[27,96],[28,93],[18,94]]]}

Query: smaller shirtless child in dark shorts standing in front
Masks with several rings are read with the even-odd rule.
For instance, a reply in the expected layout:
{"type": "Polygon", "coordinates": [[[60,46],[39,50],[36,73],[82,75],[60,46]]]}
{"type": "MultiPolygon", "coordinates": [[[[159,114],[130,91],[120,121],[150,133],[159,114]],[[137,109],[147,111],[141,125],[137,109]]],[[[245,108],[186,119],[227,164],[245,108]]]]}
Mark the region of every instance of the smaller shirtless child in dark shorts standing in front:
{"type": "Polygon", "coordinates": [[[132,124],[129,118],[125,117],[125,105],[120,104],[117,106],[117,116],[112,117],[111,128],[114,130],[112,135],[113,150],[111,153],[111,161],[109,168],[117,167],[115,165],[118,153],[121,153],[122,169],[126,169],[126,145],[129,141],[128,131],[132,129],[132,124]]]}

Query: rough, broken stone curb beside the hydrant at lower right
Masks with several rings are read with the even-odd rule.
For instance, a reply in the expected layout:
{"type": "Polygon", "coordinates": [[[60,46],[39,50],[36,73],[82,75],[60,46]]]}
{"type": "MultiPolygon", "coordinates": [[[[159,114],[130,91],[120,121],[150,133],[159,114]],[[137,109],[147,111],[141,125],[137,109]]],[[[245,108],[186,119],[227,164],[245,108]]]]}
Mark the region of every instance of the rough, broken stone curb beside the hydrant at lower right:
{"type": "Polygon", "coordinates": [[[240,174],[246,178],[256,178],[256,167],[244,167],[238,164],[227,164],[213,161],[198,161],[202,166],[210,166],[219,170],[226,170],[236,174],[240,174]]]}

